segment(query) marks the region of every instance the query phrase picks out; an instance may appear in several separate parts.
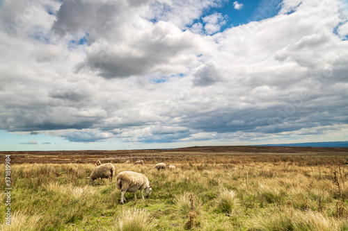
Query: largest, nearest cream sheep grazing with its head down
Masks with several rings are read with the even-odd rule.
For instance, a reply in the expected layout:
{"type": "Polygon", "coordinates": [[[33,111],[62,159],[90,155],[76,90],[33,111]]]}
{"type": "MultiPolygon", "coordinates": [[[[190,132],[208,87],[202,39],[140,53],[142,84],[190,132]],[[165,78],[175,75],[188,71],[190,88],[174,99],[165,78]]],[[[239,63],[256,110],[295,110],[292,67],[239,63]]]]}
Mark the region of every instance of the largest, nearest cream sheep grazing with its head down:
{"type": "Polygon", "coordinates": [[[143,190],[145,189],[145,196],[148,197],[151,194],[152,186],[148,178],[142,173],[136,173],[134,171],[121,171],[116,177],[117,188],[121,190],[121,204],[125,199],[125,192],[134,192],[134,200],[136,200],[136,191],[141,191],[141,198],[143,196],[143,190]]]}

